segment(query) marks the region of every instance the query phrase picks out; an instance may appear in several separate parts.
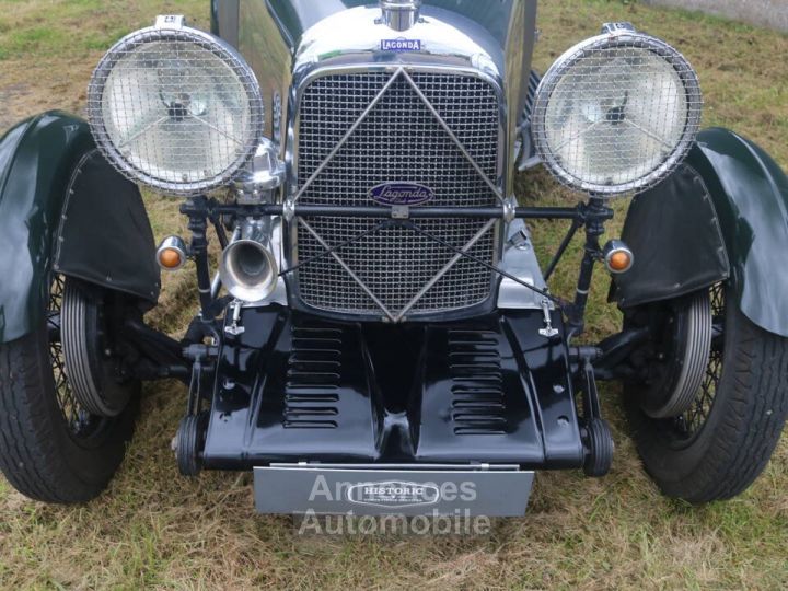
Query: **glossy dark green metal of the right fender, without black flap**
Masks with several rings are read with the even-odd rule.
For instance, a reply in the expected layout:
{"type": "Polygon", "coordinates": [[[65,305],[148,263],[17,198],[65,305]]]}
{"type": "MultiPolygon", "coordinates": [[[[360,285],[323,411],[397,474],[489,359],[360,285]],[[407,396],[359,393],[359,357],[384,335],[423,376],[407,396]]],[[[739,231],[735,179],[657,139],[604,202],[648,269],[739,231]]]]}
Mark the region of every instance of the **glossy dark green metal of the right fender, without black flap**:
{"type": "Polygon", "coordinates": [[[698,136],[687,162],[711,194],[742,312],[788,337],[788,177],[761,148],[720,128],[698,136]]]}

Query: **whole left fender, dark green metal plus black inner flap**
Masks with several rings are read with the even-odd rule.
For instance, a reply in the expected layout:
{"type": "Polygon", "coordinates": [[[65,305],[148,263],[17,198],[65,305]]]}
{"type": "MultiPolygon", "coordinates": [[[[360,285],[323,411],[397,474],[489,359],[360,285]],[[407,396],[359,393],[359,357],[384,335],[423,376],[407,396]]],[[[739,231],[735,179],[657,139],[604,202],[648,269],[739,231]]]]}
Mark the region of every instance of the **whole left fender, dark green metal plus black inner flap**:
{"type": "Polygon", "coordinates": [[[0,343],[42,321],[53,270],[155,305],[153,232],[137,186],[85,121],[48,112],[0,138],[0,343]]]}

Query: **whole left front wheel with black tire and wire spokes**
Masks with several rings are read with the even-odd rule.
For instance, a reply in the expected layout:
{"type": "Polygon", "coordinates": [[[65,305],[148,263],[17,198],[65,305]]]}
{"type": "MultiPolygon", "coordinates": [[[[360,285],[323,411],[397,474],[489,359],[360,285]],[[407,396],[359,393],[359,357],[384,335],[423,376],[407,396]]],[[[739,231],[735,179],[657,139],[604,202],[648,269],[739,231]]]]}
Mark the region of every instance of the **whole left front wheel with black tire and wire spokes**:
{"type": "Polygon", "coordinates": [[[91,375],[81,379],[90,378],[105,395],[121,401],[114,416],[95,414],[80,402],[69,380],[69,366],[76,364],[65,356],[68,331],[78,332],[71,336],[88,343],[91,354],[99,339],[111,335],[101,313],[74,320],[73,310],[90,311],[93,303],[70,281],[54,279],[45,321],[36,331],[0,346],[0,470],[23,495],[58,503],[84,502],[104,490],[123,461],[139,405],[139,383],[119,375],[109,381],[108,362],[100,362],[101,372],[85,362],[83,373],[91,375]],[[66,314],[63,300],[73,308],[66,314]]]}

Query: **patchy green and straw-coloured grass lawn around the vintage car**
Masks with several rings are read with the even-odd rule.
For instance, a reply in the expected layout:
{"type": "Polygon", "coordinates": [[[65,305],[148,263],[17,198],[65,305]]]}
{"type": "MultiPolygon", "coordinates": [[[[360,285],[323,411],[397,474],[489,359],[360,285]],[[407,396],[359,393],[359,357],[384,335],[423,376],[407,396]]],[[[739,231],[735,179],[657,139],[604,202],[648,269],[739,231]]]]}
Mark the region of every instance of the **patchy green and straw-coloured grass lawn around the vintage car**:
{"type": "MultiPolygon", "coordinates": [[[[253,1],[253,0],[245,0],[253,1]]],[[[262,1],[262,0],[254,0],[262,1]]],[[[123,34],[160,12],[207,26],[207,0],[0,0],[0,132],[46,108],[81,112],[93,66],[123,34]]],[[[705,125],[756,139],[788,167],[788,37],[634,1],[542,2],[536,67],[546,67],[605,21],[631,21],[685,51],[706,95],[705,125]]],[[[573,204],[544,172],[519,179],[529,204],[573,204]]],[[[147,197],[158,236],[184,231],[177,201],[147,197]]],[[[626,202],[617,202],[623,213],[626,202]]],[[[622,216],[611,224],[621,228],[622,216]]],[[[540,223],[546,250],[561,227],[540,223]]],[[[553,282],[572,290],[580,244],[553,282]]],[[[172,333],[194,312],[192,269],[165,278],[151,322],[172,333]]],[[[616,329],[598,276],[589,324],[616,329]]],[[[613,472],[541,474],[530,514],[491,535],[452,538],[299,537],[289,518],[253,513],[251,478],[177,475],[170,442],[185,391],[146,389],[128,456],[108,493],[74,508],[32,502],[0,478],[0,588],[772,588],[788,587],[788,441],[746,494],[692,508],[660,496],[645,475],[604,391],[616,440],[613,472]]]]}

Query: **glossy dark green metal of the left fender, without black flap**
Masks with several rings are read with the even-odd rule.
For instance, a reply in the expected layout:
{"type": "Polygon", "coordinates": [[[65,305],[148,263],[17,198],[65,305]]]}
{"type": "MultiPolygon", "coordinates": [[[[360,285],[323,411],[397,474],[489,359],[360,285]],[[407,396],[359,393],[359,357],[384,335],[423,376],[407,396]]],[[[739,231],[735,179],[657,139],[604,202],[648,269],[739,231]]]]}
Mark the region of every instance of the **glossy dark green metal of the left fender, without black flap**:
{"type": "Polygon", "coordinates": [[[40,322],[66,187],[92,148],[88,124],[59,112],[27,119],[0,139],[0,343],[40,322]]]}

